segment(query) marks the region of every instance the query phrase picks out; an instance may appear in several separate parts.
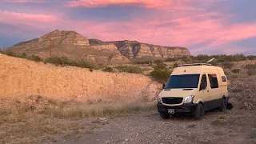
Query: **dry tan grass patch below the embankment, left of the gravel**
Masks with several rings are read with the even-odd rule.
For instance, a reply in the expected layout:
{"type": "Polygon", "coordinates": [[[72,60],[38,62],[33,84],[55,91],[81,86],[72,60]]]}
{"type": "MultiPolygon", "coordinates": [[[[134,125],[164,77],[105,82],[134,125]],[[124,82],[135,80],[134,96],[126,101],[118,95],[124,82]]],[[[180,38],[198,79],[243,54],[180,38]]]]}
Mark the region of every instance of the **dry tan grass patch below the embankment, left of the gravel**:
{"type": "MultiPolygon", "coordinates": [[[[152,103],[61,102],[40,96],[0,99],[0,143],[37,143],[87,130],[81,118],[108,117],[152,110],[152,103]]],[[[90,131],[90,130],[87,130],[90,131]]]]}

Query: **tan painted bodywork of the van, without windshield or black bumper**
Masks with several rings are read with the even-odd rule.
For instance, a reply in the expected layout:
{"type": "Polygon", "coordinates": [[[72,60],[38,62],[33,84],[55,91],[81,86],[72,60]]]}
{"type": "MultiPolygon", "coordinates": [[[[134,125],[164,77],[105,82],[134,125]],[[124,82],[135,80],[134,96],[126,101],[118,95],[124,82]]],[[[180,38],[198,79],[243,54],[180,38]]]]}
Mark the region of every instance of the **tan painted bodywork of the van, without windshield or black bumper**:
{"type": "MultiPolygon", "coordinates": [[[[213,109],[221,105],[222,98],[228,98],[227,90],[227,78],[221,67],[218,66],[180,66],[174,69],[172,75],[183,75],[183,74],[200,74],[198,81],[198,88],[193,88],[192,90],[183,89],[171,89],[162,90],[158,95],[159,98],[183,98],[181,103],[178,104],[166,104],[162,102],[163,106],[181,106],[184,104],[185,98],[189,95],[193,95],[193,103],[202,102],[205,105],[205,110],[213,109]],[[200,85],[202,81],[202,75],[206,74],[207,86],[206,90],[200,90],[200,85]],[[218,85],[211,85],[210,79],[215,78],[218,80],[218,85]]],[[[211,80],[211,81],[214,81],[211,80]]],[[[213,83],[213,82],[212,82],[213,83]]]]}

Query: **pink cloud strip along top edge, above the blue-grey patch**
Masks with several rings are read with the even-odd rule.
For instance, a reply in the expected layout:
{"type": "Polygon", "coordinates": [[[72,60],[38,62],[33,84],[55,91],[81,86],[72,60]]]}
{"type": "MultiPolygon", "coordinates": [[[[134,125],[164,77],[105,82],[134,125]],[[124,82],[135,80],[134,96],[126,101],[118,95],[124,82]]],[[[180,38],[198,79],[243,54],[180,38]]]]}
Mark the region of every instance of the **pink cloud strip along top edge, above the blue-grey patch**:
{"type": "Polygon", "coordinates": [[[102,7],[109,5],[138,5],[146,8],[154,8],[165,6],[171,1],[166,0],[78,0],[68,2],[68,6],[72,7],[102,7]]]}

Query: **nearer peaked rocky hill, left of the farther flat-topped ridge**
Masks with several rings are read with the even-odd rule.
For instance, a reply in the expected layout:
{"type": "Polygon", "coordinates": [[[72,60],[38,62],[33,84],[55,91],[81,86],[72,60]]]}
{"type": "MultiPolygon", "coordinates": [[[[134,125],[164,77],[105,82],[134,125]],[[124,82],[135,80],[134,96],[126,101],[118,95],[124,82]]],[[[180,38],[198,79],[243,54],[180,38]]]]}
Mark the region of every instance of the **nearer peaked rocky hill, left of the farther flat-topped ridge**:
{"type": "Polygon", "coordinates": [[[52,55],[65,56],[71,59],[87,59],[98,63],[130,62],[128,58],[120,54],[118,47],[111,43],[95,40],[90,44],[89,40],[74,31],[54,30],[41,38],[28,42],[20,42],[8,50],[27,55],[37,54],[42,58],[49,57],[50,40],[52,40],[52,55]],[[113,59],[113,60],[112,60],[113,59]]]}

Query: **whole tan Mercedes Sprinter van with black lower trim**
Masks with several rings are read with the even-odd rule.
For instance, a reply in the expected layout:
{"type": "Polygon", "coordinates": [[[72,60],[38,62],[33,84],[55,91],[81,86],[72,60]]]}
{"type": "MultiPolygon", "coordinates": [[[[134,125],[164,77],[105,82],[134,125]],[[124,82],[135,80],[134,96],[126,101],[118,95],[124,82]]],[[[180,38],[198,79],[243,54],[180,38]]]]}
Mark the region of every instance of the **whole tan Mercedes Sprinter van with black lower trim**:
{"type": "Polygon", "coordinates": [[[229,100],[227,78],[221,67],[207,63],[179,65],[158,94],[161,118],[190,113],[203,118],[206,110],[226,110],[229,100]]]}

